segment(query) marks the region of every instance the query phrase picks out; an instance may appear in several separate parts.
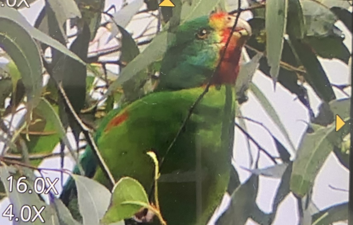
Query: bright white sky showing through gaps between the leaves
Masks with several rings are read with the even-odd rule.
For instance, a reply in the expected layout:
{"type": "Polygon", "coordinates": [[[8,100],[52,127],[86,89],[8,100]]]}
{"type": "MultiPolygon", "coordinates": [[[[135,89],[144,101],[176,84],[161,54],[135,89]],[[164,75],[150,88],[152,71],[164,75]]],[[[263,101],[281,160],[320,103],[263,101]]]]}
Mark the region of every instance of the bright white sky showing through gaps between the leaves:
{"type": "MultiPolygon", "coordinates": [[[[43,6],[43,0],[37,1],[31,5],[30,8],[21,9],[20,12],[28,19],[31,24],[34,24],[35,19],[37,18],[38,13],[40,12],[41,7],[43,6]]],[[[130,1],[128,1],[130,2],[130,1]]],[[[110,5],[114,4],[116,10],[119,10],[122,6],[122,0],[106,0],[106,8],[110,5]]],[[[141,14],[138,18],[146,17],[146,14],[141,14]]],[[[250,18],[251,13],[242,13],[241,17],[250,18]]],[[[133,21],[126,27],[126,29],[133,34],[133,37],[138,36],[145,26],[149,23],[151,18],[138,19],[134,17],[133,21]]],[[[156,23],[155,23],[156,24],[156,23]]],[[[337,22],[337,26],[344,32],[346,39],[344,43],[348,47],[350,51],[352,51],[352,36],[347,28],[341,22],[337,22]]],[[[111,46],[115,46],[118,42],[113,39],[108,44],[106,43],[106,39],[109,34],[101,28],[98,31],[97,37],[101,36],[100,47],[99,49],[106,49],[111,46]]],[[[147,38],[148,39],[148,38],[147,38]]],[[[141,39],[142,40],[142,39],[141,39]]],[[[90,51],[94,51],[97,48],[97,45],[94,45],[90,48],[90,51]]],[[[350,69],[349,67],[340,62],[340,60],[329,60],[319,58],[321,61],[325,72],[327,73],[331,83],[334,84],[348,84],[350,83],[350,69]]],[[[118,73],[118,69],[115,66],[109,66],[108,68],[112,72],[118,73]]],[[[259,89],[263,91],[265,96],[269,99],[277,114],[279,115],[283,125],[287,129],[287,132],[290,136],[291,141],[294,146],[297,148],[300,142],[300,139],[303,133],[306,130],[307,125],[303,122],[309,122],[309,113],[308,110],[304,107],[303,104],[296,98],[295,95],[291,94],[288,90],[283,88],[280,84],[277,84],[276,91],[273,88],[273,81],[263,75],[260,71],[257,71],[253,77],[253,82],[258,86],[259,89]]],[[[337,99],[345,98],[340,90],[335,89],[335,94],[337,99]]],[[[320,102],[316,97],[315,93],[312,89],[308,88],[309,97],[311,107],[315,114],[318,113],[318,107],[320,102]]],[[[347,89],[346,92],[348,94],[351,93],[350,89],[347,89]]],[[[264,126],[268,127],[271,132],[279,139],[285,147],[289,147],[289,144],[286,142],[284,136],[281,134],[280,130],[277,128],[274,122],[272,122],[265,110],[261,107],[261,105],[257,102],[257,99],[249,93],[249,100],[241,106],[241,111],[243,116],[250,117],[253,120],[259,121],[264,124],[264,126]]],[[[246,122],[247,129],[249,133],[253,136],[253,138],[264,148],[269,151],[269,153],[273,155],[277,155],[276,147],[274,145],[274,141],[271,136],[267,133],[267,131],[254,123],[246,122]]],[[[347,125],[346,125],[347,126],[347,125]]],[[[69,135],[70,136],[70,135],[69,135]]],[[[71,136],[70,140],[72,141],[72,146],[75,146],[73,137],[71,136]]],[[[249,167],[249,154],[247,150],[247,144],[245,136],[241,133],[241,131],[236,130],[235,132],[235,140],[236,145],[234,146],[235,152],[235,162],[234,165],[238,170],[241,182],[245,182],[247,178],[249,178],[250,173],[241,169],[241,167],[249,167]]],[[[1,149],[1,143],[0,143],[1,149]]],[[[59,147],[57,146],[54,149],[55,152],[59,152],[59,147]]],[[[257,149],[255,145],[251,144],[251,152],[252,155],[256,156],[257,149]]],[[[47,159],[44,160],[40,167],[45,168],[58,168],[60,165],[59,159],[47,159]]],[[[262,157],[259,161],[259,167],[264,168],[271,165],[271,162],[264,157],[262,157]]],[[[65,160],[65,168],[72,169],[73,161],[71,159],[65,160]]],[[[315,181],[315,186],[313,189],[313,203],[322,210],[323,208],[329,207],[333,204],[338,204],[342,202],[348,201],[348,192],[337,191],[331,189],[329,185],[334,186],[336,188],[346,189],[349,187],[349,171],[340,166],[338,160],[334,156],[334,154],[330,154],[328,159],[325,162],[322,170],[320,171],[317,179],[315,181]]],[[[47,174],[52,180],[56,177],[60,177],[59,173],[48,172],[47,174]]],[[[266,178],[260,176],[260,185],[258,190],[258,197],[256,202],[259,208],[266,212],[271,212],[271,206],[273,204],[273,198],[276,194],[276,188],[280,184],[279,179],[274,178],[266,178]]],[[[61,185],[58,182],[56,188],[61,191],[61,185]]],[[[222,205],[227,205],[227,197],[222,205]]],[[[0,202],[0,213],[4,212],[5,208],[8,206],[8,199],[4,199],[0,202]]],[[[224,208],[224,207],[223,207],[224,208]]],[[[282,201],[278,210],[277,210],[276,218],[273,222],[273,225],[297,225],[298,224],[298,209],[296,199],[292,194],[288,195],[285,200],[282,201]]],[[[0,224],[11,224],[7,218],[0,217],[0,224]]],[[[256,223],[252,220],[248,220],[246,225],[255,225],[256,223]]],[[[347,222],[336,223],[335,225],[347,224],[347,222]]]]}

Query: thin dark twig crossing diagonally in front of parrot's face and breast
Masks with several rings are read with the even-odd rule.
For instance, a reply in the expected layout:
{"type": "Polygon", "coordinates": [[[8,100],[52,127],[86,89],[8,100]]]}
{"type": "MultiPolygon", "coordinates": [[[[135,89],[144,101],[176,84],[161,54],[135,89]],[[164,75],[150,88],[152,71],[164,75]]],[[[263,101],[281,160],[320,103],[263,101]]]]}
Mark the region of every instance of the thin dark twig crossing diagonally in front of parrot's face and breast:
{"type": "MultiPolygon", "coordinates": [[[[241,4],[241,0],[238,0],[238,10],[240,9],[240,4],[241,4]]],[[[235,18],[235,23],[232,27],[232,30],[231,30],[231,34],[235,31],[235,27],[237,26],[237,23],[238,23],[238,20],[239,20],[239,17],[240,17],[240,13],[237,14],[237,17],[235,18]]],[[[159,171],[161,171],[161,168],[163,166],[163,162],[164,160],[166,159],[166,156],[168,155],[170,149],[174,146],[174,143],[177,141],[179,135],[181,134],[181,131],[183,131],[187,121],[189,121],[190,119],[190,116],[191,114],[193,113],[193,111],[195,110],[195,107],[197,106],[197,104],[202,100],[202,98],[207,94],[211,84],[212,84],[212,81],[213,81],[213,78],[215,77],[216,73],[219,71],[219,68],[221,66],[221,63],[226,55],[226,52],[227,52],[227,47],[229,45],[229,42],[231,41],[231,38],[232,38],[232,35],[229,35],[228,39],[227,39],[227,42],[226,42],[226,45],[224,47],[224,51],[222,52],[222,55],[220,57],[220,60],[216,66],[216,69],[214,70],[212,76],[210,77],[209,79],[209,82],[207,83],[204,91],[201,93],[201,95],[199,95],[199,97],[196,99],[196,101],[191,105],[190,109],[189,109],[189,113],[187,114],[187,116],[185,117],[183,123],[181,124],[177,134],[175,135],[173,141],[170,143],[169,147],[167,148],[166,150],[166,153],[164,154],[163,158],[161,159],[161,162],[160,162],[160,166],[159,166],[159,171]]]]}

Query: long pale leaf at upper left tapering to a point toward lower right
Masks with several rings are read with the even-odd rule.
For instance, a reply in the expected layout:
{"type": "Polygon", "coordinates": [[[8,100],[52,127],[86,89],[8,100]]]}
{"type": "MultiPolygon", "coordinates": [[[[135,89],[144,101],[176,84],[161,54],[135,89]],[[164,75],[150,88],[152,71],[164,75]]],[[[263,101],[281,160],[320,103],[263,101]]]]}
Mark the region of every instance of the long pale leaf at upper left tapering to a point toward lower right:
{"type": "MultiPolygon", "coordinates": [[[[32,27],[28,23],[26,18],[24,18],[23,15],[21,15],[17,10],[15,10],[13,8],[9,8],[9,7],[0,7],[0,18],[5,18],[5,19],[13,21],[13,23],[16,23],[16,24],[22,26],[30,34],[31,38],[33,37],[34,39],[36,39],[44,44],[47,44],[47,45],[53,47],[54,49],[57,49],[60,52],[66,54],[67,56],[69,56],[73,59],[76,59],[78,62],[86,65],[85,62],[83,62],[76,54],[74,54],[73,52],[68,50],[67,47],[62,45],[59,41],[49,37],[47,34],[41,32],[37,28],[32,27]]],[[[10,25],[10,23],[8,23],[8,25],[10,25]]],[[[2,28],[2,26],[1,26],[1,28],[2,28]]],[[[20,36],[18,36],[18,38],[19,37],[20,36]]],[[[26,44],[28,44],[28,41],[26,42],[26,44]]],[[[40,70],[40,72],[42,72],[42,71],[40,70]]]]}

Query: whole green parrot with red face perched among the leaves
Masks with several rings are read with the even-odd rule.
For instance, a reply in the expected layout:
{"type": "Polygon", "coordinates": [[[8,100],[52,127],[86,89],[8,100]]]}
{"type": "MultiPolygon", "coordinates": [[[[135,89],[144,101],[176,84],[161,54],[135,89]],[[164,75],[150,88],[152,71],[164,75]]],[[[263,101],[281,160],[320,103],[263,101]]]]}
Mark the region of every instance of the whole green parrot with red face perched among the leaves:
{"type": "MultiPolygon", "coordinates": [[[[242,19],[231,33],[235,20],[234,15],[215,12],[180,25],[161,61],[156,90],[112,110],[95,135],[114,179],[130,176],[147,193],[152,193],[154,163],[146,152],[153,150],[159,161],[164,159],[158,199],[168,225],[207,224],[228,186],[236,108],[234,85],[241,48],[251,35],[250,25],[242,19]],[[222,54],[220,67],[212,76],[222,54]],[[208,92],[166,154],[211,78],[208,92]]],[[[111,188],[90,147],[81,163],[86,176],[111,188]]],[[[75,196],[70,179],[60,198],[68,205],[75,196]]],[[[135,219],[152,222],[147,214],[136,215],[135,219]]],[[[153,224],[158,224],[157,218],[153,224]]]]}

